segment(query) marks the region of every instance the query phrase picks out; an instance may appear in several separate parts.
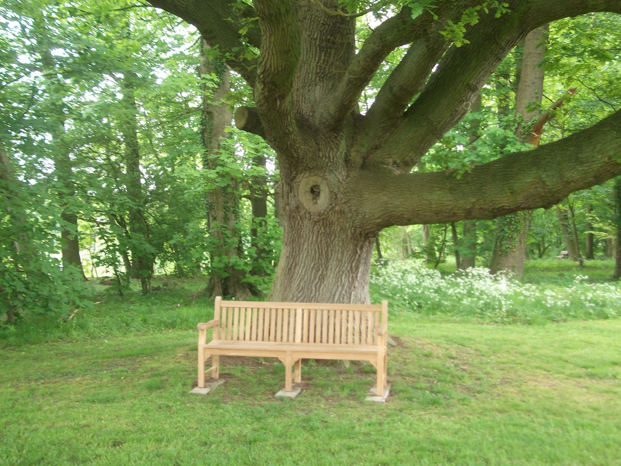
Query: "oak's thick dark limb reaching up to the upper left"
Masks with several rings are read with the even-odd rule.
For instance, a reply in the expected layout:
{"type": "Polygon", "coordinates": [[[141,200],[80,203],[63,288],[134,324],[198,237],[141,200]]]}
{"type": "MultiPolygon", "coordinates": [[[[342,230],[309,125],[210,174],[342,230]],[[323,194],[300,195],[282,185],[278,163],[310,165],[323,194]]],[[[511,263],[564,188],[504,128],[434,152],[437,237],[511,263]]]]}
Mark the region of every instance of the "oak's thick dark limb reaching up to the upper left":
{"type": "Polygon", "coordinates": [[[261,30],[254,9],[243,2],[233,8],[229,0],[148,0],[150,4],[193,24],[213,48],[224,53],[227,64],[251,86],[255,83],[256,63],[244,56],[244,42],[261,47],[261,30]],[[239,33],[250,22],[245,35],[239,33]]]}

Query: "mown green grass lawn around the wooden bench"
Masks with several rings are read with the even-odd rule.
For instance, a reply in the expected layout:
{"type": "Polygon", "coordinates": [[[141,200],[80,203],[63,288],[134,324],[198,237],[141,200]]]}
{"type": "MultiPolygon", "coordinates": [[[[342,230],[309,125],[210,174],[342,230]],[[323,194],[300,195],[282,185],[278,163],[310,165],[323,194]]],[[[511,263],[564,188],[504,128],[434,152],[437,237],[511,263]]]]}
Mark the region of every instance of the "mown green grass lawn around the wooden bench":
{"type": "Polygon", "coordinates": [[[0,350],[2,465],[620,465],[621,320],[497,326],[391,316],[374,368],[223,358],[196,381],[196,331],[0,350]]]}

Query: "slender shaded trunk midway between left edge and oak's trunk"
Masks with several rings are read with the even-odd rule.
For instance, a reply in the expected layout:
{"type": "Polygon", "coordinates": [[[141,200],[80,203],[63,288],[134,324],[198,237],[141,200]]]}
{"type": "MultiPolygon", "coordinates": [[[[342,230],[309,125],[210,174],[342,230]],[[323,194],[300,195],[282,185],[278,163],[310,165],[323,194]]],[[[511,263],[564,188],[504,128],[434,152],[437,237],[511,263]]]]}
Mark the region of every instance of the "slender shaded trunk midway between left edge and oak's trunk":
{"type": "Polygon", "coordinates": [[[138,76],[129,70],[123,73],[121,92],[122,114],[121,133],[125,146],[125,189],[130,204],[129,234],[132,251],[132,275],[140,279],[142,292],[147,293],[153,268],[153,254],[149,246],[149,227],[145,217],[146,199],[142,190],[142,171],[140,170],[140,143],[138,142],[138,107],[134,93],[138,76]]]}

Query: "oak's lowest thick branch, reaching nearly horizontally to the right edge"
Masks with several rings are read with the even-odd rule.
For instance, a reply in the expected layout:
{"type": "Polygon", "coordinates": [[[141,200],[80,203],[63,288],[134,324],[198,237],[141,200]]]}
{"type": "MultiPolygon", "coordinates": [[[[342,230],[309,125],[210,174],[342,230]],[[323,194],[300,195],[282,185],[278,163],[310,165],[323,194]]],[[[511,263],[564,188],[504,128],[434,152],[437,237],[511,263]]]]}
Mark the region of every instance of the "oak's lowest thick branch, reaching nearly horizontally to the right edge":
{"type": "Polygon", "coordinates": [[[353,181],[355,208],[375,227],[492,219],[549,208],[574,191],[621,175],[621,111],[569,137],[478,165],[394,175],[365,171],[353,181]]]}

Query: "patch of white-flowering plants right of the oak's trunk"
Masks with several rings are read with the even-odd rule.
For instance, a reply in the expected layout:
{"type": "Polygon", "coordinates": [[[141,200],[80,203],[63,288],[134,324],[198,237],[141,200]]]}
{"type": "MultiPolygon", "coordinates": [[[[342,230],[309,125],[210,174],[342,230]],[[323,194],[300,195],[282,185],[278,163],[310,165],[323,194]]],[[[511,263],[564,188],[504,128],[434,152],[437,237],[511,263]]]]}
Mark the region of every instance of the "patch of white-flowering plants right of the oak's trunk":
{"type": "Polygon", "coordinates": [[[442,275],[423,265],[395,262],[371,275],[373,301],[388,299],[392,309],[446,314],[500,323],[535,324],[566,319],[607,319],[621,314],[621,288],[586,283],[577,275],[569,286],[520,283],[487,268],[442,275]]]}

